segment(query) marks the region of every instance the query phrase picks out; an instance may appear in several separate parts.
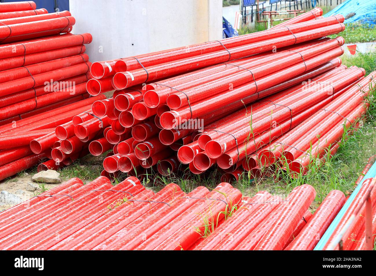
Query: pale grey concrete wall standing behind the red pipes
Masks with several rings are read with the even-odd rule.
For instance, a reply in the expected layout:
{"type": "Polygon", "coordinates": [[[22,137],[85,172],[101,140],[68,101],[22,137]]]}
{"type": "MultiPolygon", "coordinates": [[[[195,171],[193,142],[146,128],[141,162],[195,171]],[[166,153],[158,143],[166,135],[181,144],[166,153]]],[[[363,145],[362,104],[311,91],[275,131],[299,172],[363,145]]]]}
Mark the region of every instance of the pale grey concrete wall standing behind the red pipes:
{"type": "Polygon", "coordinates": [[[90,61],[222,38],[221,0],[70,0],[73,33],[91,33],[90,61]]]}

